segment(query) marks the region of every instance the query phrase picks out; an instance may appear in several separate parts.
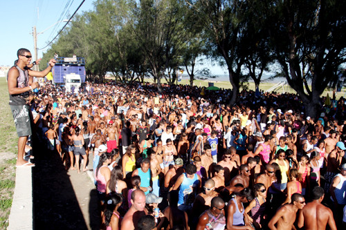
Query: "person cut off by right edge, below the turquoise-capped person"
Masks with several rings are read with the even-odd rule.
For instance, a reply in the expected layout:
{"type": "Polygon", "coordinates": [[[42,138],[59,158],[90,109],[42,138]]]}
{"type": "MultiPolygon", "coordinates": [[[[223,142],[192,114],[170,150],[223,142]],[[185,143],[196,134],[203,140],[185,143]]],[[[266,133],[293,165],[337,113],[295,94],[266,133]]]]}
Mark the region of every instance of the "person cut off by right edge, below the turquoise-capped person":
{"type": "Polygon", "coordinates": [[[341,166],[340,173],[336,174],[330,186],[331,201],[334,202],[334,216],[338,229],[341,229],[343,207],[346,204],[346,164],[341,166]]]}

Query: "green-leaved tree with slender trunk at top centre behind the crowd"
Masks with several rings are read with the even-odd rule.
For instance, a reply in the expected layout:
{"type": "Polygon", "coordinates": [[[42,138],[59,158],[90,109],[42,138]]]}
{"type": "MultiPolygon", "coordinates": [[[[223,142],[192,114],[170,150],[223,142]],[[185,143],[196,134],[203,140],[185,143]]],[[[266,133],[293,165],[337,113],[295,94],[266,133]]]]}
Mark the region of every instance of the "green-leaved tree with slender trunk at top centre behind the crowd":
{"type": "Polygon", "coordinates": [[[183,12],[183,3],[179,0],[143,0],[134,7],[134,33],[160,93],[161,78],[167,68],[176,65],[174,62],[185,42],[183,12]]]}

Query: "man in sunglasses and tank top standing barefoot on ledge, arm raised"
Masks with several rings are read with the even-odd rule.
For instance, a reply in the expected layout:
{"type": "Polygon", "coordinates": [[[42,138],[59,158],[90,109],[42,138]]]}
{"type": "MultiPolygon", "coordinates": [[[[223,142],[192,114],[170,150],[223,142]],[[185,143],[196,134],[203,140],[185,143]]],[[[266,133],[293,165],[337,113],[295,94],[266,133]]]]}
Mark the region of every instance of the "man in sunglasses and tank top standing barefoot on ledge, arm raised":
{"type": "Polygon", "coordinates": [[[15,121],[18,140],[17,166],[34,166],[24,160],[25,145],[28,136],[31,135],[30,115],[27,104],[30,91],[37,88],[38,83],[33,82],[33,77],[45,77],[55,65],[55,59],[49,61],[49,66],[41,71],[33,71],[27,68],[31,61],[31,53],[25,48],[17,51],[18,62],[8,71],[8,93],[10,93],[10,108],[15,121]]]}

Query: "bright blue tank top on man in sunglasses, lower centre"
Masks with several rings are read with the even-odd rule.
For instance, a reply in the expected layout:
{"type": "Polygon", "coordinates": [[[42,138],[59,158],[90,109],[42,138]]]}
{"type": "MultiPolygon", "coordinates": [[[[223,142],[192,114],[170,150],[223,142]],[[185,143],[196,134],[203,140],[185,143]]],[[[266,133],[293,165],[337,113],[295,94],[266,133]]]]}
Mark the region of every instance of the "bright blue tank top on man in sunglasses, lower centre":
{"type": "Polygon", "coordinates": [[[183,182],[179,189],[179,201],[178,204],[192,204],[194,197],[196,196],[194,188],[199,185],[197,173],[194,173],[194,178],[190,179],[183,173],[183,182]]]}

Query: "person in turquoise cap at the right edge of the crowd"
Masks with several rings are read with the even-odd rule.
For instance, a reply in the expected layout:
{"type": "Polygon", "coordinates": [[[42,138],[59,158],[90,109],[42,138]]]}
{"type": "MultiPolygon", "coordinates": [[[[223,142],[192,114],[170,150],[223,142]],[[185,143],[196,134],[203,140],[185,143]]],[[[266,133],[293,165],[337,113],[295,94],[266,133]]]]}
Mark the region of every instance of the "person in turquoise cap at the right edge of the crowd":
{"type": "Polygon", "coordinates": [[[325,173],[325,193],[329,192],[331,182],[338,173],[343,156],[345,155],[345,144],[343,142],[336,143],[336,148],[329,153],[327,158],[327,171],[325,173]]]}

